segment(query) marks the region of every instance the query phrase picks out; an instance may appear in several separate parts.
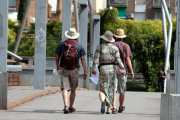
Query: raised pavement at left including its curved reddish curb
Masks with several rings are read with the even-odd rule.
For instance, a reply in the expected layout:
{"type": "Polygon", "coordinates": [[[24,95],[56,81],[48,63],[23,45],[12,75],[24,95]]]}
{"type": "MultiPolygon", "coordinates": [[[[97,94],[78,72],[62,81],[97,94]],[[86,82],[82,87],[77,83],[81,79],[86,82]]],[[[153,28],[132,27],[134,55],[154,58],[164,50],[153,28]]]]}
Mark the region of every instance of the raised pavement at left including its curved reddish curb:
{"type": "MultiPolygon", "coordinates": [[[[77,88],[77,90],[81,89],[83,88],[77,88]]],[[[60,91],[60,87],[46,86],[44,90],[34,90],[33,86],[8,87],[8,109],[19,106],[41,96],[59,94],[60,91]]]]}

